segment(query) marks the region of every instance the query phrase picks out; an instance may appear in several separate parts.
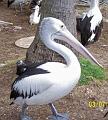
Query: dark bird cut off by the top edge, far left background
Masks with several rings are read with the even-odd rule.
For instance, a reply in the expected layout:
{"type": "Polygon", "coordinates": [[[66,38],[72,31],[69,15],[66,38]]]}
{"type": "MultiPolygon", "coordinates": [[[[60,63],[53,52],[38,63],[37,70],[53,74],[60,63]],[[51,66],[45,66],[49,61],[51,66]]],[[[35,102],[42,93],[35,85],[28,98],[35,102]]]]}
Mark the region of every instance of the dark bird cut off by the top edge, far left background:
{"type": "Polygon", "coordinates": [[[14,6],[15,10],[16,7],[19,6],[20,7],[20,11],[22,12],[22,8],[24,4],[28,4],[31,0],[8,0],[8,7],[10,6],[14,6]]]}

